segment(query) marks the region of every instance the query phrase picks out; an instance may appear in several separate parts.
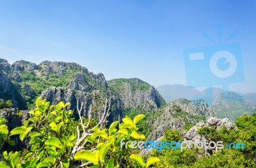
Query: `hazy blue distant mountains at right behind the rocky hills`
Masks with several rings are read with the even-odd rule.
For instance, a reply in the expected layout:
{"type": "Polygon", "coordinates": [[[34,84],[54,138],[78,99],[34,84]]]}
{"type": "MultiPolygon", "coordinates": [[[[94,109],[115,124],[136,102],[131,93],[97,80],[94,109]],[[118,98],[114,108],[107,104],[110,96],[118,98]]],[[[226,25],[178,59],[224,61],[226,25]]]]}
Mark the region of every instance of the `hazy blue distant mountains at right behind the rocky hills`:
{"type": "Polygon", "coordinates": [[[190,101],[204,100],[219,118],[228,118],[232,122],[238,116],[252,114],[256,110],[256,94],[237,94],[221,90],[221,88],[207,88],[202,92],[184,85],[162,85],[156,88],[166,102],[186,98],[190,101]]]}

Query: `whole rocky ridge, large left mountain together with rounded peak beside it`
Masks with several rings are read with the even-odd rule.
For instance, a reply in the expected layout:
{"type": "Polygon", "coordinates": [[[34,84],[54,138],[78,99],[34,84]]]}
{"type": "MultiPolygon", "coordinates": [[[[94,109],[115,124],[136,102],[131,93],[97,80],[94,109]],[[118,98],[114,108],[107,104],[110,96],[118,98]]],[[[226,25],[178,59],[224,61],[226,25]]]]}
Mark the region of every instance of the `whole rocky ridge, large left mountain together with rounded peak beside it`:
{"type": "MultiPolygon", "coordinates": [[[[157,109],[165,103],[157,90],[144,81],[123,79],[126,84],[114,86],[114,81],[119,80],[113,80],[109,81],[109,87],[102,73],[93,74],[76,63],[44,61],[36,65],[19,60],[10,65],[7,60],[0,59],[0,79],[0,99],[12,100],[14,107],[19,109],[32,108],[36,97],[41,96],[54,104],[70,102],[68,108],[75,110],[77,103],[80,106],[85,102],[83,116],[88,115],[92,104],[92,115],[100,118],[108,98],[111,101],[109,123],[122,118],[124,108],[147,101],[157,109]]],[[[77,113],[74,114],[77,118],[77,113]]]]}

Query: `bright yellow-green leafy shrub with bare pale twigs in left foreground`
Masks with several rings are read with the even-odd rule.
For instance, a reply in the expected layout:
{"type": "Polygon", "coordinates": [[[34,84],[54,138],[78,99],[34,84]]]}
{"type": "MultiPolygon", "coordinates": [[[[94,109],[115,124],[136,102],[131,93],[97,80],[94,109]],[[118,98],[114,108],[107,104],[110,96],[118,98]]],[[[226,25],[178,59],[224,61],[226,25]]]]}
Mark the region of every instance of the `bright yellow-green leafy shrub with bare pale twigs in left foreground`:
{"type": "MultiPolygon", "coordinates": [[[[136,150],[120,148],[120,141],[145,139],[138,134],[137,123],[144,115],[126,116],[124,123],[113,122],[104,129],[108,112],[100,122],[80,118],[74,121],[72,110],[66,110],[69,103],[50,102],[36,99],[36,107],[29,111],[31,118],[21,127],[9,131],[0,118],[0,145],[15,145],[12,136],[19,135],[20,140],[29,139],[30,148],[24,151],[3,151],[0,167],[150,167],[159,159],[141,158],[136,150]],[[133,153],[131,155],[131,153],[133,153]],[[134,161],[132,161],[134,160],[134,161]]],[[[107,106],[107,104],[106,104],[107,106]]],[[[107,107],[106,107],[107,108],[107,107]]],[[[81,112],[81,110],[78,110],[81,112]]],[[[0,149],[1,150],[1,149],[0,149]]]]}

